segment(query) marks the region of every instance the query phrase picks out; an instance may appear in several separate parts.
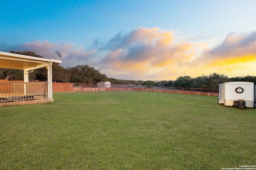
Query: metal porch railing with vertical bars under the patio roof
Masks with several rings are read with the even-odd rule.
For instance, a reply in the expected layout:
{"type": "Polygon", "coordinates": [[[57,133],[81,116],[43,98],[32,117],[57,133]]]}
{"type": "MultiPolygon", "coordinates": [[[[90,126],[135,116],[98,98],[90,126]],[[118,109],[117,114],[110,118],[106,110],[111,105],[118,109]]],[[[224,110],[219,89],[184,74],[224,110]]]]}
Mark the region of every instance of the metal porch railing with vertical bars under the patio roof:
{"type": "Polygon", "coordinates": [[[47,82],[0,82],[0,102],[47,98],[47,82]]]}

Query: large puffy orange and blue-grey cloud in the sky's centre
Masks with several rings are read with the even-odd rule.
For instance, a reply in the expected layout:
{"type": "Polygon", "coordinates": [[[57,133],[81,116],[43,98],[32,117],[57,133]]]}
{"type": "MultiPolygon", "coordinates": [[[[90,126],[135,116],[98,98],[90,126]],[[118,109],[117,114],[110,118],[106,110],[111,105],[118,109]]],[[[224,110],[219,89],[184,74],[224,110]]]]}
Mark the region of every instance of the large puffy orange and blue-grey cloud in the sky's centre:
{"type": "Polygon", "coordinates": [[[159,77],[160,72],[168,71],[166,68],[185,65],[195,53],[193,46],[190,42],[174,43],[173,31],[138,27],[127,35],[120,32],[102,44],[98,53],[106,55],[98,64],[104,72],[112,70],[123,77],[134,74],[145,80],[156,73],[159,77]]]}

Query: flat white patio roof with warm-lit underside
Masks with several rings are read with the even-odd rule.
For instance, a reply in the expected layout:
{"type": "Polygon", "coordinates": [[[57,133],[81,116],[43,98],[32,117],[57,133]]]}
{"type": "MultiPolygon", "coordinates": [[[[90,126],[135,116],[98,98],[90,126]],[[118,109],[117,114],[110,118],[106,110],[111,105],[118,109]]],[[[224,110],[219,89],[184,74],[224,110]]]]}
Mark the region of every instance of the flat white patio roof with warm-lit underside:
{"type": "Polygon", "coordinates": [[[61,61],[0,51],[0,68],[12,68],[29,71],[46,67],[49,63],[60,64],[61,61]]]}

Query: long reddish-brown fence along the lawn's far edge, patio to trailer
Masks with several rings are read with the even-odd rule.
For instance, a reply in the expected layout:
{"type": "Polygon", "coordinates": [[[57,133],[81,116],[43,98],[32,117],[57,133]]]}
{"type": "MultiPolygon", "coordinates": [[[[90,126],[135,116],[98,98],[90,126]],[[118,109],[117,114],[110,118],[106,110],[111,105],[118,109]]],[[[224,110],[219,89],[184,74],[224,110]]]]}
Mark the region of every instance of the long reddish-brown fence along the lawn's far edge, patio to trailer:
{"type": "Polygon", "coordinates": [[[112,84],[111,88],[97,88],[97,84],[52,83],[52,92],[98,92],[98,91],[147,91],[175,94],[219,96],[218,89],[174,88],[157,86],[136,86],[112,84]]]}

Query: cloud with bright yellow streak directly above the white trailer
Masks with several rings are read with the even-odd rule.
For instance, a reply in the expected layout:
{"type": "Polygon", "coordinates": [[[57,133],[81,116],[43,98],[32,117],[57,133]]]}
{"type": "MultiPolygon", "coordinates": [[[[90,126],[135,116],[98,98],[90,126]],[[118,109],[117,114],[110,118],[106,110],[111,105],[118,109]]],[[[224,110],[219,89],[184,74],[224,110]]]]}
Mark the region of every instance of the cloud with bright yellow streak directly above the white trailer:
{"type": "Polygon", "coordinates": [[[239,35],[230,33],[216,47],[202,51],[196,61],[200,61],[196,71],[208,70],[229,76],[255,75],[256,31],[239,35]]]}

